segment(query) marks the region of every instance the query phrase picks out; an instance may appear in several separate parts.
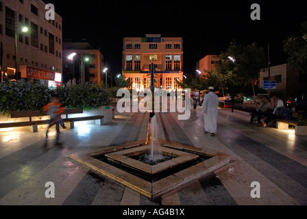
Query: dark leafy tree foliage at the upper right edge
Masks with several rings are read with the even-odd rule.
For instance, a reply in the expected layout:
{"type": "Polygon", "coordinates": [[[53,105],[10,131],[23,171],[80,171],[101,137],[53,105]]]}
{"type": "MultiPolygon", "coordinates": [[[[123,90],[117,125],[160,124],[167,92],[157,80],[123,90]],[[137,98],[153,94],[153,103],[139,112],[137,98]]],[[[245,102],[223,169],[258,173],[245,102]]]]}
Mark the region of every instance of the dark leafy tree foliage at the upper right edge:
{"type": "Polygon", "coordinates": [[[288,63],[295,66],[299,74],[307,74],[307,21],[301,24],[297,35],[284,40],[284,52],[288,63]]]}

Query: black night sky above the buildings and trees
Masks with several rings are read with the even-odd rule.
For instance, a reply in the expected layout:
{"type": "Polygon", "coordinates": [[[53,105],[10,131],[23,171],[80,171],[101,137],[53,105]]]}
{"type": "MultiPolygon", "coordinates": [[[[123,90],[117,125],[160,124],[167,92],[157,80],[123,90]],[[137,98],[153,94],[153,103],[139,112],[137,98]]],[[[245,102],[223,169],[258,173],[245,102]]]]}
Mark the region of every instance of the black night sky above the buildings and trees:
{"type": "Polygon", "coordinates": [[[286,63],[283,41],[307,21],[304,1],[187,1],[187,0],[46,0],[62,16],[63,40],[86,38],[100,48],[112,73],[121,73],[123,38],[161,34],[184,39],[184,72],[196,62],[219,55],[232,40],[256,42],[267,51],[271,66],[286,63]],[[252,21],[251,4],[260,5],[260,21],[252,21]]]}

